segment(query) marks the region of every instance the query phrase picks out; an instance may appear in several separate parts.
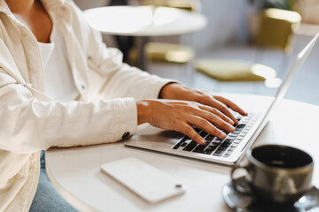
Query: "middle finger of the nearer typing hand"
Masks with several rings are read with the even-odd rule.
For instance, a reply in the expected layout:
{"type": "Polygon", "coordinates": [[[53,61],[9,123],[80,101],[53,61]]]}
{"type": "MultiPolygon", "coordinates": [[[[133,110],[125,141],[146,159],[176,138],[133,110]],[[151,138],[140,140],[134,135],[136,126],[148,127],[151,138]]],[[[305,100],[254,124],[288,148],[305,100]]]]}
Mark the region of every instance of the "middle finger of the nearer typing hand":
{"type": "Polygon", "coordinates": [[[196,110],[194,111],[194,115],[198,117],[202,117],[212,123],[213,125],[217,126],[219,129],[225,130],[227,132],[234,132],[235,128],[230,125],[229,123],[222,120],[222,118],[217,117],[214,113],[208,112],[206,110],[196,110]]]}

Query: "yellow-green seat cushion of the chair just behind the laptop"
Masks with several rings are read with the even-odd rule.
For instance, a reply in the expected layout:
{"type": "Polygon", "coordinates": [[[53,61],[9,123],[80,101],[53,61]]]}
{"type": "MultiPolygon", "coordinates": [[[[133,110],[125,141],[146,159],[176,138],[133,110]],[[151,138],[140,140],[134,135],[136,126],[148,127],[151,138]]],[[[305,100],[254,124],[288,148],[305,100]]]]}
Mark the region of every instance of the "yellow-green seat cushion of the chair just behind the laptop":
{"type": "Polygon", "coordinates": [[[263,81],[276,77],[276,71],[266,65],[240,60],[200,59],[196,69],[221,81],[263,81]]]}

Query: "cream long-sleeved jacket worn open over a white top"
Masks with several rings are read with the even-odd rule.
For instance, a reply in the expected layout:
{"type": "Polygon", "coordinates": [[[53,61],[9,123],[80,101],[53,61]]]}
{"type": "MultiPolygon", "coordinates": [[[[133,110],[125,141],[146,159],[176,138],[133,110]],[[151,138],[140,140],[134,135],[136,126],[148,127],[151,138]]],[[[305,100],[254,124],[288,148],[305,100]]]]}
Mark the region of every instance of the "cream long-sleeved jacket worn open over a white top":
{"type": "Polygon", "coordinates": [[[121,140],[136,133],[135,99],[157,98],[170,80],[122,64],[69,0],[43,0],[63,34],[81,99],[44,93],[35,36],[0,0],[0,211],[27,211],[35,195],[39,151],[121,140]],[[116,98],[116,99],[115,99],[116,98]]]}

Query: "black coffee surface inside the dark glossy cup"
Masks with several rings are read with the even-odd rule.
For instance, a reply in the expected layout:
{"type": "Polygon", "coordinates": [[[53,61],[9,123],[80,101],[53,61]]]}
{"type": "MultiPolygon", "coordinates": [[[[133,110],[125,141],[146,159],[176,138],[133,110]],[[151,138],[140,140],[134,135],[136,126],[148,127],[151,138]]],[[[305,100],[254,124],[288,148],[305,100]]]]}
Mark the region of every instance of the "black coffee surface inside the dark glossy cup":
{"type": "Polygon", "coordinates": [[[277,168],[294,169],[313,162],[311,156],[300,149],[279,145],[253,148],[252,155],[261,163],[277,168]]]}

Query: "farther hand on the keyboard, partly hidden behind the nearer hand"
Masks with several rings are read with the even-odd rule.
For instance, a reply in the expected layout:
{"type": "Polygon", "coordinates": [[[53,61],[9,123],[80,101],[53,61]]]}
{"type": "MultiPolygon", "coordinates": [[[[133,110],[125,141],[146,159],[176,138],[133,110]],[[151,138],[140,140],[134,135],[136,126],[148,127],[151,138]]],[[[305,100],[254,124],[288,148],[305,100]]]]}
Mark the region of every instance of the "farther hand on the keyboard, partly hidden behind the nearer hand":
{"type": "Polygon", "coordinates": [[[232,116],[229,108],[237,111],[242,116],[247,115],[247,113],[240,109],[234,102],[230,102],[230,100],[225,99],[222,96],[212,95],[209,92],[199,91],[178,83],[169,83],[164,86],[159,93],[159,98],[192,101],[213,107],[220,110],[227,117],[230,117],[235,124],[237,124],[238,121],[232,116]]]}

